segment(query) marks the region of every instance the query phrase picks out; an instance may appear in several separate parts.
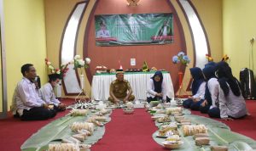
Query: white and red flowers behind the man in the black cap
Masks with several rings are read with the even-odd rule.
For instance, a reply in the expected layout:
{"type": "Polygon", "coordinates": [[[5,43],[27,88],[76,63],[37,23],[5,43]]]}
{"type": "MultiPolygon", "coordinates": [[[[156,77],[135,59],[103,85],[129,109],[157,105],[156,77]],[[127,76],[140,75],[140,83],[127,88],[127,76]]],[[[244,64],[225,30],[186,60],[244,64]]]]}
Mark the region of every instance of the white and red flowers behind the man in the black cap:
{"type": "Polygon", "coordinates": [[[48,69],[49,69],[49,71],[50,71],[51,74],[58,74],[58,75],[60,75],[61,79],[62,79],[64,76],[66,76],[67,70],[69,70],[69,68],[68,68],[67,66],[68,66],[68,64],[70,64],[70,63],[61,64],[61,68],[59,69],[59,68],[55,68],[55,67],[51,64],[51,62],[49,62],[48,59],[44,59],[44,61],[45,61],[45,64],[47,65],[47,67],[48,67],[48,69]]]}

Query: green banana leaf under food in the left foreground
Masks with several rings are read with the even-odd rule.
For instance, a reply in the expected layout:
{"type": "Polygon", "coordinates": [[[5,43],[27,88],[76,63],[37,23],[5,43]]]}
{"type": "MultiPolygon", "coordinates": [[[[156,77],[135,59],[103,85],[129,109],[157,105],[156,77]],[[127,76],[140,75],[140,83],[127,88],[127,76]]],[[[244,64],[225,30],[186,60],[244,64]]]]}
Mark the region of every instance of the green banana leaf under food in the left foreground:
{"type": "MultiPolygon", "coordinates": [[[[108,115],[107,115],[108,117],[108,115]]],[[[71,137],[75,134],[70,130],[69,126],[75,121],[84,121],[88,119],[88,116],[65,116],[60,119],[50,122],[48,125],[41,128],[38,132],[28,138],[25,143],[21,145],[21,150],[45,150],[48,148],[49,143],[56,142],[60,143],[61,139],[71,137]]],[[[107,118],[107,122],[111,119],[107,118]]],[[[87,137],[84,141],[86,144],[96,143],[105,133],[105,126],[96,128],[93,135],[87,137]]]]}

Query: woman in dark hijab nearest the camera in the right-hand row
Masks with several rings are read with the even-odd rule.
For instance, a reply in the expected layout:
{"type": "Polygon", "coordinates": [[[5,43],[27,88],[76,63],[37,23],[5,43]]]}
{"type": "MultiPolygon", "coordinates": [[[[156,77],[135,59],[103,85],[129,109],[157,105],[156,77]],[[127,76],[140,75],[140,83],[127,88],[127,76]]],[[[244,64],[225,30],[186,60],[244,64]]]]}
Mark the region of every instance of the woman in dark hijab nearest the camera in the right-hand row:
{"type": "Polygon", "coordinates": [[[241,87],[236,77],[232,75],[231,68],[226,62],[219,62],[215,75],[218,77],[218,107],[208,111],[210,117],[223,120],[233,120],[247,115],[244,98],[241,95],[241,87]]]}

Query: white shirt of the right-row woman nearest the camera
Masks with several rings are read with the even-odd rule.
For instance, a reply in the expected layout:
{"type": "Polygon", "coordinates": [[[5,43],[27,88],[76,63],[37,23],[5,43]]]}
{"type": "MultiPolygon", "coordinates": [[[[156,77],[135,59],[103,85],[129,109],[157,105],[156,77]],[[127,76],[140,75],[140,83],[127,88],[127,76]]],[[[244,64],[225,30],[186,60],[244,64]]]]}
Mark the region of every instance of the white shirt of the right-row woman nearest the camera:
{"type": "Polygon", "coordinates": [[[219,110],[221,118],[227,118],[228,116],[240,118],[244,115],[247,115],[246,102],[241,94],[237,97],[230,89],[228,96],[224,96],[224,92],[219,85],[218,92],[219,110]]]}

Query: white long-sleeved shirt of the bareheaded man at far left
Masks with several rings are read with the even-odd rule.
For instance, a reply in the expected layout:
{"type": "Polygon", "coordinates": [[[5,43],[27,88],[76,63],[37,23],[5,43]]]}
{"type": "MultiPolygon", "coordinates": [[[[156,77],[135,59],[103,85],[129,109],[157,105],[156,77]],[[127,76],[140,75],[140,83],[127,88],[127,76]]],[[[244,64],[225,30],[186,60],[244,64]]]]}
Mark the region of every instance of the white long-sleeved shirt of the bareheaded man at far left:
{"type": "Polygon", "coordinates": [[[29,110],[33,107],[40,107],[44,103],[38,96],[35,84],[26,77],[23,77],[15,88],[12,101],[11,110],[13,114],[15,115],[18,112],[20,116],[23,115],[24,109],[29,110]]]}

